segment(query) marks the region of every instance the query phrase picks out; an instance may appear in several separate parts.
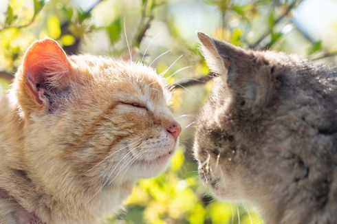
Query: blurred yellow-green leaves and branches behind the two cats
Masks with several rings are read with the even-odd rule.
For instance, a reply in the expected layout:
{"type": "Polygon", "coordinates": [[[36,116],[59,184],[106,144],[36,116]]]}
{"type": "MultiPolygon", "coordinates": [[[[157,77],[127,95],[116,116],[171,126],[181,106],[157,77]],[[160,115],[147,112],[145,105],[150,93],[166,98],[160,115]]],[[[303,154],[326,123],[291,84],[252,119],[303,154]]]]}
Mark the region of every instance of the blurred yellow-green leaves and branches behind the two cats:
{"type": "Polygon", "coordinates": [[[25,49],[45,36],[67,54],[131,54],[164,74],[183,132],[170,168],[139,181],[125,209],[104,223],[263,223],[248,203],[213,199],[197,177],[194,124],[213,84],[196,31],[335,66],[336,10],[336,0],[1,0],[0,93],[9,88],[25,49]]]}

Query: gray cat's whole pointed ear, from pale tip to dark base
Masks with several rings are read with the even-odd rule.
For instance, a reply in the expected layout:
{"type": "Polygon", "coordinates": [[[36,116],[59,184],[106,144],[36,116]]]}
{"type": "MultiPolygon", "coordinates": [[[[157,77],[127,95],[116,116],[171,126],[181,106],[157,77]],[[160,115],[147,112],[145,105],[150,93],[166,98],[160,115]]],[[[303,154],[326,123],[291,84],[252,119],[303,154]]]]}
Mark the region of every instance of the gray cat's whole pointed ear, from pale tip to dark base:
{"type": "Polygon", "coordinates": [[[230,43],[197,33],[210,70],[226,80],[232,93],[241,96],[245,107],[267,104],[274,96],[272,65],[264,57],[230,43]]]}

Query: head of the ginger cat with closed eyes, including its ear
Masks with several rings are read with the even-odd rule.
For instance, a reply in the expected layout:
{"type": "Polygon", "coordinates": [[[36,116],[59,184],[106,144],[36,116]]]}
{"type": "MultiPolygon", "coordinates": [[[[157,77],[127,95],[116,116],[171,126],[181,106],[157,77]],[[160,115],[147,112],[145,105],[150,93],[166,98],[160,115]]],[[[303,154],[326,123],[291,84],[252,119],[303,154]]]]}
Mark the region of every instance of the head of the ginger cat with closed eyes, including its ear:
{"type": "Polygon", "coordinates": [[[76,190],[88,190],[90,198],[158,175],[181,131],[153,69],[98,56],[68,57],[48,38],[25,53],[11,95],[24,121],[28,174],[46,194],[60,198],[76,190]]]}

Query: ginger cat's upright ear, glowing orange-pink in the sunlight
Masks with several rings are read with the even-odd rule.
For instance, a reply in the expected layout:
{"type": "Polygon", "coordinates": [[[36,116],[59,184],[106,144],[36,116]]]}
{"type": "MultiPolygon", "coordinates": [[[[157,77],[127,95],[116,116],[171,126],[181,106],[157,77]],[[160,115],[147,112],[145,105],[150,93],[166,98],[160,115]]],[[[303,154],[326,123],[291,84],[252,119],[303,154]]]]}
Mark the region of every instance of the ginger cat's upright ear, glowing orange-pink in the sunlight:
{"type": "Polygon", "coordinates": [[[22,70],[34,100],[42,105],[44,93],[69,85],[72,64],[56,41],[45,38],[34,42],[25,52],[22,70]]]}

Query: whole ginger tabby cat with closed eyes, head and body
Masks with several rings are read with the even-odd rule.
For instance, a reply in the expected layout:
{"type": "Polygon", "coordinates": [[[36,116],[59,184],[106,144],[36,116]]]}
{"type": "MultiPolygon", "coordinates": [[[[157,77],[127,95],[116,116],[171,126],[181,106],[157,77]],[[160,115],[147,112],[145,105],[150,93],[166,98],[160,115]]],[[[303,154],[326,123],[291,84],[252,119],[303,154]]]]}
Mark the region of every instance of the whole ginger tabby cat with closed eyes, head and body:
{"type": "Polygon", "coordinates": [[[92,224],[116,211],[175,151],[167,98],[149,67],[33,43],[0,101],[0,223],[92,224]]]}

